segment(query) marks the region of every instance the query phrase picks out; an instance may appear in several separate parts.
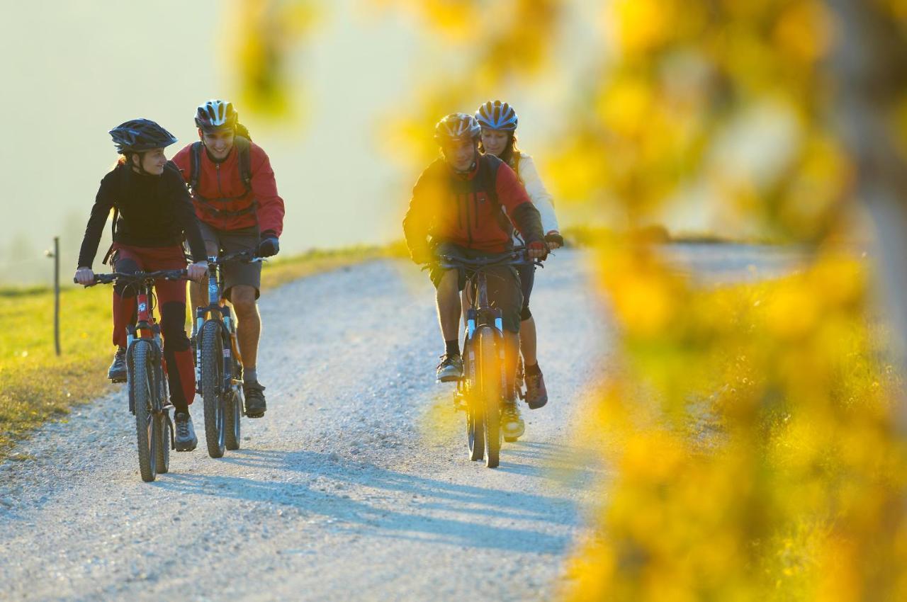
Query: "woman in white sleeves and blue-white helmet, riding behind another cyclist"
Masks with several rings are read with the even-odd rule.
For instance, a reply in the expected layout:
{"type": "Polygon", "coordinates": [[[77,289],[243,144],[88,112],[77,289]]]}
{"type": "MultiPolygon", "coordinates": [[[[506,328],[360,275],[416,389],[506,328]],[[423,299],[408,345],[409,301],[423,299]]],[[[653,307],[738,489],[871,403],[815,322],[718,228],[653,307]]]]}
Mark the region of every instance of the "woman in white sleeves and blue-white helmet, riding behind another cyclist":
{"type": "MultiPolygon", "coordinates": [[[[475,119],[482,126],[480,150],[495,155],[511,166],[529,194],[535,209],[541,214],[541,228],[545,233],[548,248],[555,249],[563,245],[563,238],[558,228],[558,218],[554,215],[551,194],[541,183],[539,171],[535,169],[532,157],[517,149],[516,146],[516,112],[506,102],[485,102],[475,112],[475,119]]],[[[514,234],[514,238],[515,234],[514,234]]],[[[530,409],[541,408],[548,403],[548,391],[541,375],[536,355],[535,320],[529,309],[529,297],[535,280],[535,266],[522,266],[519,269],[522,285],[522,312],[520,318],[520,350],[526,378],[526,403],[530,409]]]]}

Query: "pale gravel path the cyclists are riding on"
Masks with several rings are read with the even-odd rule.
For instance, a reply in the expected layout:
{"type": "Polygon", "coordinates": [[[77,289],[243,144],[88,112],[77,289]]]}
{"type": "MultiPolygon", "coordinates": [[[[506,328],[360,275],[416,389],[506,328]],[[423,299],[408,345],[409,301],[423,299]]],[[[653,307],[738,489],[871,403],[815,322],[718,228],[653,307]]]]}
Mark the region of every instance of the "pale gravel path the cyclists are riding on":
{"type": "MultiPolygon", "coordinates": [[[[671,252],[718,280],[788,263],[671,252]]],[[[552,401],[498,470],[467,460],[452,385],[434,383],[424,274],[378,261],[283,286],[261,303],[268,413],[244,449],[215,461],[200,441],[142,483],[121,388],[0,464],[0,599],[551,599],[603,476],[571,446],[611,347],[590,273],[561,250],[536,279],[552,401]]]]}

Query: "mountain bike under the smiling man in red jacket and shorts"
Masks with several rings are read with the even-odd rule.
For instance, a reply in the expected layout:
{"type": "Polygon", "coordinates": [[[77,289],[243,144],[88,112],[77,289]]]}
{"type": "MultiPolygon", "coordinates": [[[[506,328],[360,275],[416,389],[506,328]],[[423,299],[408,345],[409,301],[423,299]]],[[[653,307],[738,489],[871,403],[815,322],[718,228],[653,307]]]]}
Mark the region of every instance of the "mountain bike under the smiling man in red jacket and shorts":
{"type": "Polygon", "coordinates": [[[243,415],[242,356],[236,338],[236,318],[221,299],[221,267],[231,261],[258,262],[251,249],[208,257],[208,305],[195,309],[196,393],[205,409],[208,455],[221,458],[224,450],[239,450],[243,415]]]}

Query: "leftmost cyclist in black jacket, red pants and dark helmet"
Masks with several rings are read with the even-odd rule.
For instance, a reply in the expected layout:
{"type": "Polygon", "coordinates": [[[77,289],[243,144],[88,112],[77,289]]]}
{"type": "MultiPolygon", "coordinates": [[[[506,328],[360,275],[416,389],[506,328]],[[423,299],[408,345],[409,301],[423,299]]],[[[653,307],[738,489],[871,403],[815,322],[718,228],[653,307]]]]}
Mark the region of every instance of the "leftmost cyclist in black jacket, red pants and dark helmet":
{"type": "MultiPolygon", "coordinates": [[[[126,121],[110,131],[122,157],[103,180],[88,219],[75,280],[94,282],[92,264],[104,224],[114,211],[113,245],[108,252],[117,272],[181,269],[186,266],[182,238],[189,240],[195,263],[189,277],[200,279],[208,270],[205,243],[180,170],[164,156],[164,148],[176,141],[154,121],[126,121]]],[[[107,257],[104,257],[106,261],[107,257]]],[[[186,336],[186,286],[181,281],[157,281],[154,285],[161,313],[164,362],[176,411],[176,449],[195,449],[198,438],[192,428],[189,404],[195,397],[195,372],[189,338],[186,336]]],[[[126,325],[136,319],[135,292],[114,287],[113,345],[117,352],[107,376],[113,382],[126,380],[126,325]]]]}

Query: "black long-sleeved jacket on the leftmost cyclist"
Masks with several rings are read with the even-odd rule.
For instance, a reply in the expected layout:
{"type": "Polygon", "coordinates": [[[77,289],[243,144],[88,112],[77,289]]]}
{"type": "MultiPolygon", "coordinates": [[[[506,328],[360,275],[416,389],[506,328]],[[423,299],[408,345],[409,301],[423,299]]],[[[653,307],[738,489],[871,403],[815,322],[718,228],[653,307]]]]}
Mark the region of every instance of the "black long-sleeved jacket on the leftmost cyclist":
{"type": "Polygon", "coordinates": [[[120,163],[101,180],[85,227],[78,267],[92,267],[104,224],[114,206],[119,212],[114,242],[134,247],[172,247],[182,244],[185,233],[192,259],[206,258],[199,220],[176,165],[167,161],[164,172],[152,176],[136,173],[120,163]]]}

